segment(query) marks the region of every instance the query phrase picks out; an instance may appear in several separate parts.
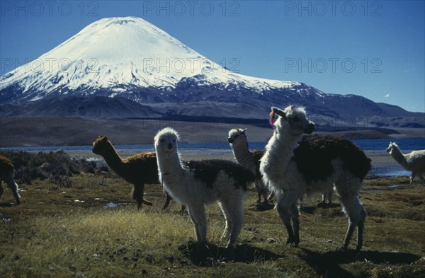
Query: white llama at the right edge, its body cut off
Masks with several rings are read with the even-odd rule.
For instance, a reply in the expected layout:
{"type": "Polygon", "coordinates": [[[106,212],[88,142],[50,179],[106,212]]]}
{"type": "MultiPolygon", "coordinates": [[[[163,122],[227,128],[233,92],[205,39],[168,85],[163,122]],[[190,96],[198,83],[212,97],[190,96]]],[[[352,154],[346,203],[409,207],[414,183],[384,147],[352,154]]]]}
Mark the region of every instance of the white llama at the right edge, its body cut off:
{"type": "Polygon", "coordinates": [[[395,159],[404,169],[411,171],[410,184],[412,185],[416,175],[425,181],[423,174],[425,173],[425,150],[412,151],[409,154],[403,154],[399,146],[390,143],[387,150],[388,153],[395,159]]]}

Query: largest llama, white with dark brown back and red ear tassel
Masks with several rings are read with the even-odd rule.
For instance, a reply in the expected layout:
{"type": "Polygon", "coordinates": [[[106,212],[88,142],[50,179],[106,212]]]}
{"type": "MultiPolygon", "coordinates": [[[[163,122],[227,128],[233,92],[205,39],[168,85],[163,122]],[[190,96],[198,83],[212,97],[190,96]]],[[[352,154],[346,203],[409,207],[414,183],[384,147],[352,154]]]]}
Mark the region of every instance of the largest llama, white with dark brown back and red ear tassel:
{"type": "Polygon", "coordinates": [[[271,123],[275,129],[260,170],[264,183],[277,195],[276,208],[288,231],[287,244],[296,247],[300,243],[297,200],[305,193],[324,192],[334,185],[349,219],[341,250],[347,249],[356,226],[356,249],[361,250],[366,213],[358,193],[370,170],[370,159],[351,141],[339,137],[306,136],[300,141],[302,134],[314,131],[314,123],[303,108],[272,108],[271,123]]]}

